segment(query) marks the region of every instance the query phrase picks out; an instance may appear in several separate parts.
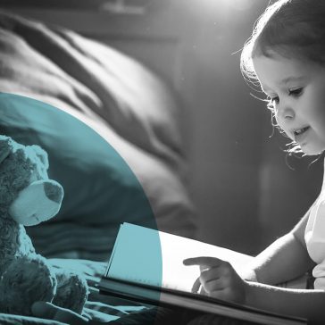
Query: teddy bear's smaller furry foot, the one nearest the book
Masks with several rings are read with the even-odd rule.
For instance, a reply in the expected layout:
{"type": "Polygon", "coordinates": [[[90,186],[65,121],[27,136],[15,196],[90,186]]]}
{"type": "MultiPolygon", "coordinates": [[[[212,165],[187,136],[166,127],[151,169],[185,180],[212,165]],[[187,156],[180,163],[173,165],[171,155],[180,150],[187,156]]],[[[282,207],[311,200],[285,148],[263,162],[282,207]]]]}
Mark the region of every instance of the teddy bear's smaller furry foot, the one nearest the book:
{"type": "Polygon", "coordinates": [[[87,281],[78,273],[58,270],[56,273],[57,289],[53,304],[82,313],[87,301],[87,281]]]}

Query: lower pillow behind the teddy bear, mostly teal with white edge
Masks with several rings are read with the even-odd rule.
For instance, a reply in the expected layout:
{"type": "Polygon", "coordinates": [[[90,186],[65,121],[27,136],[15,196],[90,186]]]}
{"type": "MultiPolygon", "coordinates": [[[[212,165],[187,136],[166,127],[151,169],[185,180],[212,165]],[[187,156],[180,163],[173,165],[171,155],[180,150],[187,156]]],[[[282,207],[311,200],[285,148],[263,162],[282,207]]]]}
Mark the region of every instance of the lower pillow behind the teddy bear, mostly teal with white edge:
{"type": "Polygon", "coordinates": [[[104,123],[4,93],[0,114],[0,133],[42,146],[49,177],[64,188],[60,212],[28,229],[40,254],[103,261],[123,221],[194,237],[193,208],[178,175],[104,123]]]}

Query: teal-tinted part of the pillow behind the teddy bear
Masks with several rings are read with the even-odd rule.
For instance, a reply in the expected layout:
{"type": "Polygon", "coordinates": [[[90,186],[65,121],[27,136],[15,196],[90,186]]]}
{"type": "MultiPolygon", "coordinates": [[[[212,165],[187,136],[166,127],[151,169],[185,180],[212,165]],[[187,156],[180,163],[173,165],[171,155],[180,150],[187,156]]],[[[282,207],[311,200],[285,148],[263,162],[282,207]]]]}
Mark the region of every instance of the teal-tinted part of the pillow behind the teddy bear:
{"type": "Polygon", "coordinates": [[[146,195],[128,164],[93,129],[28,97],[1,94],[0,107],[1,134],[24,145],[42,146],[49,156],[48,175],[63,185],[65,193],[56,221],[153,220],[146,195]]]}

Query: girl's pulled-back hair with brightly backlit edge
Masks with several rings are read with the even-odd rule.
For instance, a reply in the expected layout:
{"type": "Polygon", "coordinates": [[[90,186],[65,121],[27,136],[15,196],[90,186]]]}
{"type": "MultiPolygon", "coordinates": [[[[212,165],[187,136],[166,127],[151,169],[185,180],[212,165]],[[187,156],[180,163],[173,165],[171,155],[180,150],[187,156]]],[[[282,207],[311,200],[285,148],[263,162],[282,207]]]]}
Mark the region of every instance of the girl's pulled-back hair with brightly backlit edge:
{"type": "Polygon", "coordinates": [[[325,65],[325,0],[279,0],[269,5],[243,48],[244,77],[256,79],[255,55],[272,53],[325,65]]]}

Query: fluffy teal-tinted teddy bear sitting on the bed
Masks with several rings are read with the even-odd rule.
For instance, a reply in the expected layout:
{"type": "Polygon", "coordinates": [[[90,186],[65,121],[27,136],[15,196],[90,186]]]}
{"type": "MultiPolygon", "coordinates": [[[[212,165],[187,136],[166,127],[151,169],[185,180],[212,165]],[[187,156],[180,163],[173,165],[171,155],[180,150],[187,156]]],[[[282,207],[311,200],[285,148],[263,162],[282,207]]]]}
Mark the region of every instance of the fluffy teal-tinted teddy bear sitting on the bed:
{"type": "Polygon", "coordinates": [[[87,281],[54,268],[37,254],[24,226],[59,212],[63,187],[49,179],[48,156],[40,146],[23,146],[0,135],[0,312],[31,315],[37,301],[81,313],[87,281]]]}

